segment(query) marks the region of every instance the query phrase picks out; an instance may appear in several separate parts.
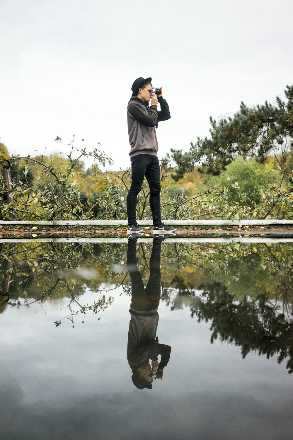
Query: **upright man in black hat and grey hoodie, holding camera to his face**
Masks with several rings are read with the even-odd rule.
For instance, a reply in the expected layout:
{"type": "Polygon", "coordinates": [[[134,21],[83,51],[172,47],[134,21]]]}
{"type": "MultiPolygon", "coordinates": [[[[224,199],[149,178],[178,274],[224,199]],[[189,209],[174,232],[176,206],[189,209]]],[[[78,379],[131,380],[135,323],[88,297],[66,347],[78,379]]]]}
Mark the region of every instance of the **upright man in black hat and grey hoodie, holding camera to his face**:
{"type": "Polygon", "coordinates": [[[160,207],[160,166],[157,158],[156,128],[159,121],[170,119],[169,106],[161,93],[152,94],[152,78],[137,78],[132,84],[132,96],[127,106],[127,125],[130,142],[132,180],[127,195],[127,234],[143,234],[136,220],[137,194],[146,177],[150,189],[149,204],[152,210],[153,234],[174,232],[162,222],[160,207]],[[151,100],[151,106],[148,103],[151,100]],[[157,110],[158,102],[161,111],[157,110]]]}

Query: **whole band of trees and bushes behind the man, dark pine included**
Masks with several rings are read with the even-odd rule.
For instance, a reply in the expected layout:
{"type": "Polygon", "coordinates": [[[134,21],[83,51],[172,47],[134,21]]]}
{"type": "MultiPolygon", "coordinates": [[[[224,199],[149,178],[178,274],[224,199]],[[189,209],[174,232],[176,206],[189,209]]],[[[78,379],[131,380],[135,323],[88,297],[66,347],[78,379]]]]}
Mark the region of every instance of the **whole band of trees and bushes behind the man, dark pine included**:
{"type": "MultiPolygon", "coordinates": [[[[171,150],[161,160],[162,212],[179,219],[293,218],[293,86],[286,102],[248,107],[214,120],[210,136],[191,143],[188,152],[171,150]]],[[[101,172],[112,159],[99,148],[87,149],[75,136],[61,153],[14,155],[0,143],[0,161],[11,163],[13,189],[0,180],[0,218],[19,220],[126,219],[131,169],[101,172]],[[84,160],[93,164],[86,168],[84,160]]],[[[137,217],[151,219],[149,189],[138,196],[137,217]]]]}

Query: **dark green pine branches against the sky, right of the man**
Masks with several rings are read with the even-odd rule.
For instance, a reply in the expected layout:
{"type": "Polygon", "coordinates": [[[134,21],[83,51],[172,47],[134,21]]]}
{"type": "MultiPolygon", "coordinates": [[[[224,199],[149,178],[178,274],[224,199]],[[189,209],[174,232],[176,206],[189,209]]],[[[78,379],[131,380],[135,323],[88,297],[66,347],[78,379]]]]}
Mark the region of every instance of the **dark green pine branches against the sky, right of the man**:
{"type": "Polygon", "coordinates": [[[218,175],[237,155],[264,162],[268,154],[274,154],[284,172],[293,145],[293,86],[287,86],[285,95],[286,103],[279,97],[276,105],[265,102],[247,107],[242,102],[233,117],[218,122],[210,117],[209,139],[198,138],[184,154],[182,150],[171,150],[177,164],[174,180],[192,170],[196,163],[202,164],[202,171],[218,175]]]}

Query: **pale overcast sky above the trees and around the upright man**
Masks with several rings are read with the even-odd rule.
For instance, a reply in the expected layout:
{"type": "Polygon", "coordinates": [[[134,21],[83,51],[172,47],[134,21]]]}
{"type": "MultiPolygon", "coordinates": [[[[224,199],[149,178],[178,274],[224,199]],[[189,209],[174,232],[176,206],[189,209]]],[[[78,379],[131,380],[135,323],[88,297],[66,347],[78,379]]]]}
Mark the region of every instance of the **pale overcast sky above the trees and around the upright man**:
{"type": "Polygon", "coordinates": [[[0,1],[0,137],[10,153],[98,146],[130,165],[126,107],[137,77],[163,87],[159,158],[209,134],[209,117],[293,84],[291,0],[0,1]]]}

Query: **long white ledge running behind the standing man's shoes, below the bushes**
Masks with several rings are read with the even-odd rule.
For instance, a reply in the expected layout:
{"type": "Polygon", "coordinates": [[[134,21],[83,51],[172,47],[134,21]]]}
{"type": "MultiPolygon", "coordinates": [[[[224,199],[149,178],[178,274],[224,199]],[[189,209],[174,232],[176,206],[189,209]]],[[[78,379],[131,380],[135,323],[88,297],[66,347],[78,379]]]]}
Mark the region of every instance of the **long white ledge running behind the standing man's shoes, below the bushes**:
{"type": "MultiPolygon", "coordinates": [[[[238,225],[291,225],[293,220],[163,220],[173,226],[238,226],[238,225]]],[[[140,226],[152,226],[152,220],[138,221],[140,226]]],[[[47,225],[47,226],[118,226],[127,220],[0,220],[0,225],[47,225]]]]}

